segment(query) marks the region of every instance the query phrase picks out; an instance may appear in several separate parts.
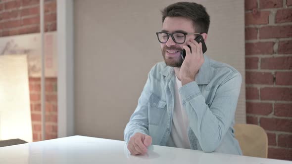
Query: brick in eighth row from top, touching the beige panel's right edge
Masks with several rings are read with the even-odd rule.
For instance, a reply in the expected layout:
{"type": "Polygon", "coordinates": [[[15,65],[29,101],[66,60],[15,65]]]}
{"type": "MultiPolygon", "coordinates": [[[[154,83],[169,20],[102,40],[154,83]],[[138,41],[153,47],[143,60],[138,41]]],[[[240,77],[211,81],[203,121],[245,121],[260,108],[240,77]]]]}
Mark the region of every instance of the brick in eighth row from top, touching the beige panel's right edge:
{"type": "Polygon", "coordinates": [[[271,103],[246,102],[246,114],[269,115],[272,111],[271,103]]]}

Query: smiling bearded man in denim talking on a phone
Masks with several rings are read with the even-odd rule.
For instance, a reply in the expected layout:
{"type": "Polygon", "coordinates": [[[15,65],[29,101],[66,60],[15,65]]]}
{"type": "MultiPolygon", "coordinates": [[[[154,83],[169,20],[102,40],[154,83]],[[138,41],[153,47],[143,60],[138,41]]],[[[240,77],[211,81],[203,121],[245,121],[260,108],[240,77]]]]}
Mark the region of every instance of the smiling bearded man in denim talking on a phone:
{"type": "Polygon", "coordinates": [[[125,128],[129,151],[144,155],[155,144],[241,155],[233,129],[241,75],[203,55],[194,40],[199,34],[206,41],[208,13],[200,4],[178,2],[162,11],[162,22],[156,34],[164,62],[149,72],[125,128]]]}

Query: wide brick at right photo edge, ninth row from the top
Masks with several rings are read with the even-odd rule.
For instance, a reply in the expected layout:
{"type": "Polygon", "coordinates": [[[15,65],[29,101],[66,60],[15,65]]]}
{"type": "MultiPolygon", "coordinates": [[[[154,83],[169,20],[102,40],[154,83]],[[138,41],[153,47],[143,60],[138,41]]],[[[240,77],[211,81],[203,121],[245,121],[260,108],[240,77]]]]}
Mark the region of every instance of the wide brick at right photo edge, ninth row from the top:
{"type": "Polygon", "coordinates": [[[265,130],[292,132],[291,119],[260,118],[260,126],[265,130]]]}

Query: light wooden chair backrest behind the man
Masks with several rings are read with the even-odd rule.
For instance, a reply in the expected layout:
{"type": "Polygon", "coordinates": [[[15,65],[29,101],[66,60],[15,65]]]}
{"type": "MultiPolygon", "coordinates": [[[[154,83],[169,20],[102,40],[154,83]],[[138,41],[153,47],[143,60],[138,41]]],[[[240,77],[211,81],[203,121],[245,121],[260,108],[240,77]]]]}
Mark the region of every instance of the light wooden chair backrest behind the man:
{"type": "Polygon", "coordinates": [[[234,130],[235,138],[244,156],[268,157],[268,136],[262,127],[255,124],[236,123],[234,130]]]}

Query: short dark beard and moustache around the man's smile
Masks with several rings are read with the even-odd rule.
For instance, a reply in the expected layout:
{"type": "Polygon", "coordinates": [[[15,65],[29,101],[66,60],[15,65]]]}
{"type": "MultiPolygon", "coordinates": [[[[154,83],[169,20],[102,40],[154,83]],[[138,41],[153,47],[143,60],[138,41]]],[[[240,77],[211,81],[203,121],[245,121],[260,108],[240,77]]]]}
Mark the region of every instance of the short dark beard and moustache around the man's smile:
{"type": "Polygon", "coordinates": [[[181,57],[181,55],[177,56],[167,56],[167,58],[165,57],[165,53],[166,50],[177,50],[177,51],[182,51],[182,49],[180,47],[175,47],[175,46],[166,46],[164,45],[163,49],[162,49],[162,56],[164,59],[164,62],[166,65],[170,66],[170,67],[181,67],[183,64],[183,58],[181,57]]]}

